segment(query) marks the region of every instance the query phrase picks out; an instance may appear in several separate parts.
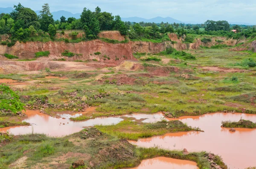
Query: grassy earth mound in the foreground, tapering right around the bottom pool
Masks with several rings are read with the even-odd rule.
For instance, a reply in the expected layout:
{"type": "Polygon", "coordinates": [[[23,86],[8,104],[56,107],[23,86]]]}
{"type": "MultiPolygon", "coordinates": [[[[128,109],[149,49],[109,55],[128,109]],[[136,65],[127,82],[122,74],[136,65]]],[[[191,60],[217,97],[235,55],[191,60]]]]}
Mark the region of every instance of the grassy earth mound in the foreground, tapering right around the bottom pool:
{"type": "MultiPolygon", "coordinates": [[[[177,150],[163,150],[155,148],[136,148],[126,140],[119,140],[116,137],[107,135],[95,128],[84,129],[73,135],[61,138],[48,137],[46,135],[30,134],[17,137],[8,137],[9,143],[1,147],[0,166],[3,169],[9,168],[9,164],[21,157],[26,156],[25,168],[35,166],[52,167],[48,162],[58,163],[58,166],[71,167],[77,159],[83,159],[85,166],[89,162],[97,164],[96,168],[123,168],[135,167],[141,160],[155,157],[177,158],[191,160],[198,163],[200,169],[209,167],[206,152],[190,153],[183,155],[177,150]],[[72,152],[74,158],[67,157],[72,152]],[[80,153],[80,154],[79,154],[80,153]],[[83,158],[81,155],[93,158],[83,158]],[[58,160],[60,157],[63,160],[58,160]]],[[[215,156],[215,158],[219,158],[215,156]]],[[[221,160],[215,160],[223,169],[227,169],[221,160]]]]}

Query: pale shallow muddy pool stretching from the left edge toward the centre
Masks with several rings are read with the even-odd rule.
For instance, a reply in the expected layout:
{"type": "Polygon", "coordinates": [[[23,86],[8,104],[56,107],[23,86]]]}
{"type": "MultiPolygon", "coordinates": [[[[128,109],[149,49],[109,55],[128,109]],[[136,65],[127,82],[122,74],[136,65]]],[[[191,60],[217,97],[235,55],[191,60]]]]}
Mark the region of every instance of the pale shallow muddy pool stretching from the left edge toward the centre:
{"type": "MultiPolygon", "coordinates": [[[[62,114],[58,115],[58,117],[51,117],[49,115],[40,113],[39,111],[34,110],[26,110],[27,119],[24,121],[31,123],[31,126],[13,126],[6,127],[0,129],[0,132],[6,132],[9,130],[10,133],[14,135],[23,135],[23,134],[31,134],[33,133],[44,133],[49,136],[61,137],[64,135],[70,135],[75,132],[79,132],[84,127],[95,126],[96,124],[102,125],[111,125],[117,124],[123,119],[121,117],[97,117],[95,119],[90,119],[86,121],[70,121],[70,117],[79,117],[82,114],[90,113],[95,110],[95,107],[88,108],[86,112],[77,113],[75,115],[62,114]]],[[[133,117],[135,119],[140,120],[141,118],[144,121],[160,120],[163,118],[163,115],[160,114],[152,114],[152,115],[141,115],[134,114],[128,115],[129,117],[133,117]]]]}

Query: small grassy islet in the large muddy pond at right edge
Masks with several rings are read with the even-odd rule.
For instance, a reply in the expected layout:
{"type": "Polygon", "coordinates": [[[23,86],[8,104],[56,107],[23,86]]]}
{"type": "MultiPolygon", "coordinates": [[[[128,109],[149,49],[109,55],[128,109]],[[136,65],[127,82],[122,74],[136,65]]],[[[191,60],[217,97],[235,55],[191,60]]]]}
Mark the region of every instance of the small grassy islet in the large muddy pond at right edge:
{"type": "Polygon", "coordinates": [[[227,128],[248,128],[248,129],[256,128],[256,123],[253,123],[250,120],[243,120],[243,119],[239,120],[238,122],[222,121],[221,124],[222,124],[222,127],[227,127],[227,128]]]}

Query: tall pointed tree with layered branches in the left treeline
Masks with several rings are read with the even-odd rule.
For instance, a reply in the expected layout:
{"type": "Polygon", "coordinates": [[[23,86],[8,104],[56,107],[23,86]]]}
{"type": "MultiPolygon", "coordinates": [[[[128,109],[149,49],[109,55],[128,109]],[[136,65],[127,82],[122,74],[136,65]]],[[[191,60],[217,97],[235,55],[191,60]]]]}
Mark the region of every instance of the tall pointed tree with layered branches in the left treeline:
{"type": "Polygon", "coordinates": [[[42,10],[39,12],[39,23],[41,24],[41,29],[45,32],[48,31],[48,26],[54,24],[53,16],[50,13],[49,4],[45,3],[42,6],[42,10]]]}

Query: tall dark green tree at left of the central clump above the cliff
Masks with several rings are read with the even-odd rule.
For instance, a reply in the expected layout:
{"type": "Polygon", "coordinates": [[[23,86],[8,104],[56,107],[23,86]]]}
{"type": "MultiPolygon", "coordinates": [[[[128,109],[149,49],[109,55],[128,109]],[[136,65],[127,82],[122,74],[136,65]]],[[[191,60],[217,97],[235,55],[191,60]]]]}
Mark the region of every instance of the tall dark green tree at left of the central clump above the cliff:
{"type": "Polygon", "coordinates": [[[81,23],[84,25],[83,28],[87,38],[94,39],[97,37],[99,34],[99,21],[95,13],[84,8],[81,13],[81,23]]]}

